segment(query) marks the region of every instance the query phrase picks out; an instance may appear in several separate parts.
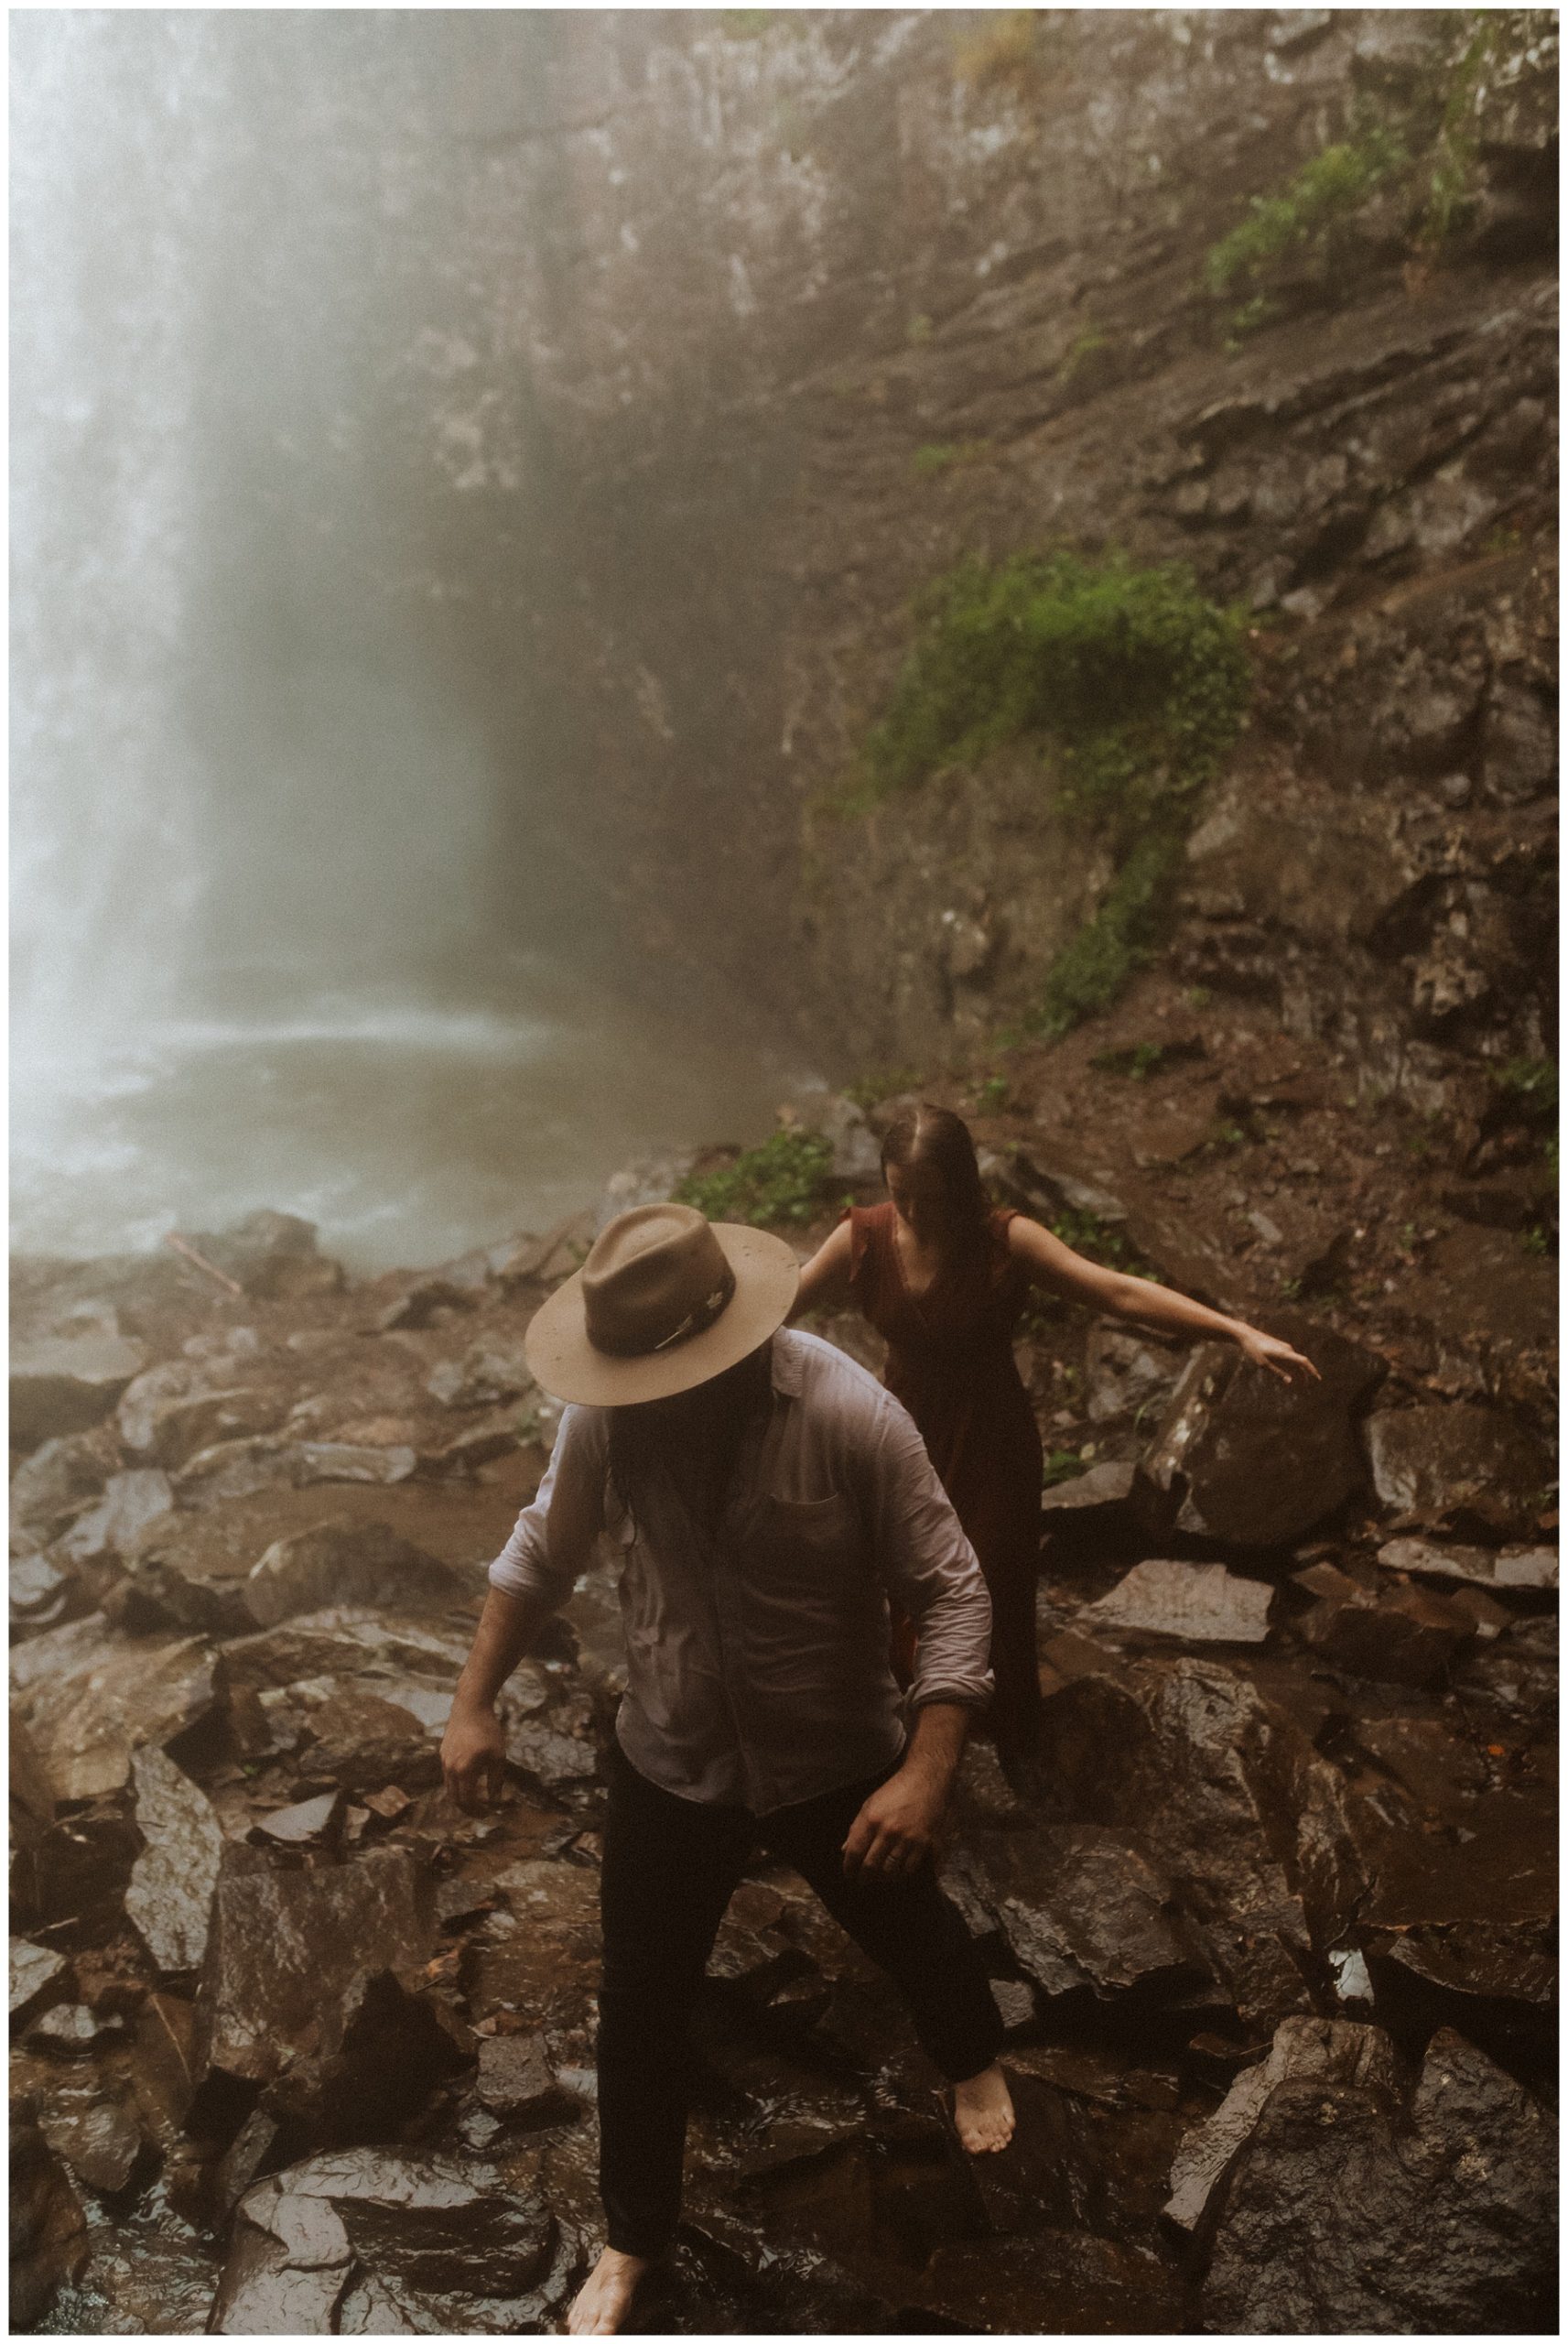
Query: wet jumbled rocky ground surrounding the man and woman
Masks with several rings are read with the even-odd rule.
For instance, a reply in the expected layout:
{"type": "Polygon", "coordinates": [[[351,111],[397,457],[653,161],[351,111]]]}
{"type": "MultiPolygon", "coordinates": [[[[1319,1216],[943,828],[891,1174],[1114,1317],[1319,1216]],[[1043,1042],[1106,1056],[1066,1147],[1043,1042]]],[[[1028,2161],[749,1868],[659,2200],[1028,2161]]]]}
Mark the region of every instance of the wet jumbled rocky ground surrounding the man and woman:
{"type": "MultiPolygon", "coordinates": [[[[455,1458],[464,1404],[427,1390],[443,1357],[516,1357],[539,1292],[476,1270],[462,1341],[455,1306],[420,1324],[354,1287],[246,1299],[230,1331],[206,1296],[159,1320],[143,1374],[178,1357],[438,1472],[300,1481],[284,1451],[359,1470],[375,1444],[270,1432],[164,1484],[113,1416],[21,1467],[47,1554],[75,1531],[94,1575],[14,1653],[26,2328],[560,2328],[602,2220],[619,1596],[595,1563],[506,1688],[499,1805],[459,1814],[438,1739],[541,1451],[455,1458]]],[[[961,2154],[898,1995],[759,1861],[694,2023],[684,2227],[630,2332],[1184,2332],[1303,2304],[1376,2330],[1390,2304],[1423,2328],[1542,2299],[1533,2182],[1493,2142],[1538,2142],[1556,2016],[1549,1563],[1451,1521],[1390,1533],[1371,1486],[1315,1542],[1221,1538],[1219,1442],[1191,1484],[1214,1519],[1155,1533],[1158,1378],[1097,1357],[1120,1456],[1055,1507],[1038,1798],[975,1739],[942,1854],[1015,2145],[961,2154]],[[1378,2056],[1313,2063],[1324,2037],[1378,2056]],[[1388,2217],[1341,2185],[1327,2100],[1388,2168],[1388,2217]],[[1287,2185],[1322,2271],[1270,2229],[1287,2185]],[[1402,2224],[1434,2220],[1453,2253],[1413,2276],[1402,2224]]],[[[1226,1442],[1259,1430],[1252,1402],[1219,1413],[1226,1442]]]]}

